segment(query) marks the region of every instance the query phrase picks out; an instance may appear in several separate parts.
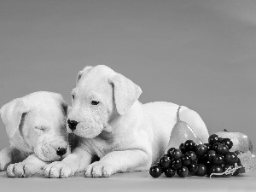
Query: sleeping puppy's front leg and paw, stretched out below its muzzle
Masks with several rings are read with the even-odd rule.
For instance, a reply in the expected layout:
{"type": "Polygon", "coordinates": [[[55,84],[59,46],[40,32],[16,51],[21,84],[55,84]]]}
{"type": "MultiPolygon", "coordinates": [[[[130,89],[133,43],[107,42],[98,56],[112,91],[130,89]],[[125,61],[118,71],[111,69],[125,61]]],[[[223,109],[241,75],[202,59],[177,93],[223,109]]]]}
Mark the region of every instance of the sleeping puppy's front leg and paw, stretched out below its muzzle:
{"type": "Polygon", "coordinates": [[[29,155],[20,163],[10,164],[7,167],[8,177],[31,177],[34,174],[43,173],[47,163],[39,160],[35,154],[29,155]]]}

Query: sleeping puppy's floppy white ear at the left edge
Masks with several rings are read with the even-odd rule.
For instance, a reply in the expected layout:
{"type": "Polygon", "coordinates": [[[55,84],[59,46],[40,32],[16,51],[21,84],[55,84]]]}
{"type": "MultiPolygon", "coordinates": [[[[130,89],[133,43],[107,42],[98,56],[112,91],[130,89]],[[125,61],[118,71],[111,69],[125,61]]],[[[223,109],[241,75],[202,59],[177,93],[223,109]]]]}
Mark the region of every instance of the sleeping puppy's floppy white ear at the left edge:
{"type": "Polygon", "coordinates": [[[22,114],[29,112],[29,108],[23,98],[18,98],[3,105],[0,112],[7,135],[11,138],[19,129],[22,114]]]}

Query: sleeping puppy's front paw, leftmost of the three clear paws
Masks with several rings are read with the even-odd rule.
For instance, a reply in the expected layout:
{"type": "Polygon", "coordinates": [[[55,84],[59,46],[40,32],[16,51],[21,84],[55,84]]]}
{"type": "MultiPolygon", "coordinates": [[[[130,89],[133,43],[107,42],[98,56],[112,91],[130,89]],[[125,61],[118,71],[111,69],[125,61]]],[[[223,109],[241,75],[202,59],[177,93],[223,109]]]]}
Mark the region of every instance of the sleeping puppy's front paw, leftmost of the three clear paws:
{"type": "Polygon", "coordinates": [[[40,167],[36,167],[32,164],[24,164],[22,162],[10,164],[7,167],[7,176],[8,177],[31,177],[32,175],[38,173],[40,167]]]}

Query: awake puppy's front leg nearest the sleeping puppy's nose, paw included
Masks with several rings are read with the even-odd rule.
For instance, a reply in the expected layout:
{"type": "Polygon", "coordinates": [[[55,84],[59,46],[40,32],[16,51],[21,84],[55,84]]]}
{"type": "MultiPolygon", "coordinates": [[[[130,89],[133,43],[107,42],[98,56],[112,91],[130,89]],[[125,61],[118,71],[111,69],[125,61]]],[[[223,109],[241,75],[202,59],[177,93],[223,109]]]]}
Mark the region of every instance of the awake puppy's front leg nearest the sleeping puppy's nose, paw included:
{"type": "Polygon", "coordinates": [[[76,172],[84,172],[90,165],[91,154],[83,148],[75,148],[72,154],[68,154],[63,160],[55,161],[44,167],[44,176],[49,178],[66,178],[76,172]]]}

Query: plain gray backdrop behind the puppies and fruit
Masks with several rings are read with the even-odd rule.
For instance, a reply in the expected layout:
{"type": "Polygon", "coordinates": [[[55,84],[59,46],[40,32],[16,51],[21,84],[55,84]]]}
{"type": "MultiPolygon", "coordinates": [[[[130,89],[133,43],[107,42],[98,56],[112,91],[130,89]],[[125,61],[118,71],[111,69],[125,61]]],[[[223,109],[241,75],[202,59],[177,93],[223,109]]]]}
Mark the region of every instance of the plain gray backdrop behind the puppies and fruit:
{"type": "Polygon", "coordinates": [[[210,133],[241,131],[256,146],[255,10],[249,0],[1,0],[0,105],[38,90],[71,104],[79,70],[105,64],[141,86],[141,102],[193,108],[210,133]]]}

